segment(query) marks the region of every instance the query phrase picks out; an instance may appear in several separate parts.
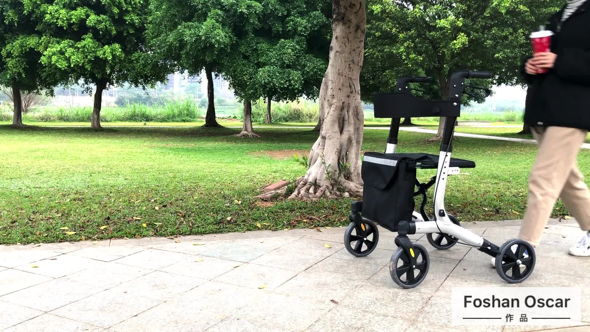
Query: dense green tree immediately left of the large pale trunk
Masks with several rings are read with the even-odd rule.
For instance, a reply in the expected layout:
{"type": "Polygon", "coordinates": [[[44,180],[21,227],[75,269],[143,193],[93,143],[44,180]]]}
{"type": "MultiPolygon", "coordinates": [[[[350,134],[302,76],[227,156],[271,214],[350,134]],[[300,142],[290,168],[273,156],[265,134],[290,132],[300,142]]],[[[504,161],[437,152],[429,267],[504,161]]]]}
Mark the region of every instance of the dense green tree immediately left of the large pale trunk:
{"type": "MultiPolygon", "coordinates": [[[[330,43],[327,5],[317,0],[261,1],[260,23],[245,31],[234,45],[226,77],[246,103],[268,99],[267,122],[271,100],[319,95],[330,43]]],[[[249,107],[245,105],[244,109],[249,107]]],[[[251,132],[246,127],[247,123],[244,132],[251,132]]]]}

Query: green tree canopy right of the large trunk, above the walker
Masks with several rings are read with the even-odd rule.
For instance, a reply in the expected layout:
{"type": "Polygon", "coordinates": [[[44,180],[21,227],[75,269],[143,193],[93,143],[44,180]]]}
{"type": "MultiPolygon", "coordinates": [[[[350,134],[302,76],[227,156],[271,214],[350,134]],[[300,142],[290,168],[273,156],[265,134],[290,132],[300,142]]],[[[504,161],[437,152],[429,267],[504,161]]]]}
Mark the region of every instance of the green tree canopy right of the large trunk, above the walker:
{"type": "MultiPolygon", "coordinates": [[[[523,84],[527,36],[560,0],[370,0],[362,97],[392,91],[398,77],[432,76],[433,97],[447,97],[454,71],[488,70],[493,82],[523,84]]],[[[466,101],[469,98],[466,96],[466,101]]]]}

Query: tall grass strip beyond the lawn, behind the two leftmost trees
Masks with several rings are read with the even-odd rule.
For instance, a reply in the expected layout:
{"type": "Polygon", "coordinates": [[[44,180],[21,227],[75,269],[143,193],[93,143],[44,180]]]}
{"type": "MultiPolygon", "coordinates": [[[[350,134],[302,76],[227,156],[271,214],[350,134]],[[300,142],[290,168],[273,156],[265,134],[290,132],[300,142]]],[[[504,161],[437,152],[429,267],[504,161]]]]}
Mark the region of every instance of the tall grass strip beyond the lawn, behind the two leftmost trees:
{"type": "MultiPolygon", "coordinates": [[[[22,116],[25,122],[90,122],[92,108],[45,108],[22,116]]],[[[101,122],[195,122],[203,112],[192,99],[171,100],[162,106],[132,104],[100,111],[101,122]]],[[[0,121],[10,121],[12,112],[0,112],[0,121]]]]}

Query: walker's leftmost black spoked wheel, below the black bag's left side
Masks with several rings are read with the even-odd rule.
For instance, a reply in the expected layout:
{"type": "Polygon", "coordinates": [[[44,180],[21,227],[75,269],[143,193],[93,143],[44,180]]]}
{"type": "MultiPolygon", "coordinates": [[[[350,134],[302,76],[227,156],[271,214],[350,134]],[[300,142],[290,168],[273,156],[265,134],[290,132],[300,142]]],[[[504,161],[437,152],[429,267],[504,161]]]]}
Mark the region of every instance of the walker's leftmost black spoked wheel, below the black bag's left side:
{"type": "Polygon", "coordinates": [[[379,230],[371,220],[363,219],[360,226],[350,223],[346,227],[344,246],[354,256],[368,256],[377,248],[377,242],[379,242],[379,230]]]}

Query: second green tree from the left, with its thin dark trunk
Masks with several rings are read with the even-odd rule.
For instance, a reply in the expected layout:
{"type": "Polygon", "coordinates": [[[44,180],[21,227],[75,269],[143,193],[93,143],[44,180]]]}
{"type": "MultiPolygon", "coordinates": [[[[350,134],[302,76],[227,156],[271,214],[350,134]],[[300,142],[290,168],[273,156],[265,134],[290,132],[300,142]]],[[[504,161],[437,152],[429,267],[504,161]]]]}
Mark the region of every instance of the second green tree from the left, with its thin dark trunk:
{"type": "Polygon", "coordinates": [[[145,43],[149,17],[145,0],[23,0],[42,17],[41,63],[67,73],[65,83],[83,80],[86,92],[96,86],[93,128],[100,128],[104,89],[129,82],[150,86],[166,79],[166,63],[157,61],[145,43]]]}

